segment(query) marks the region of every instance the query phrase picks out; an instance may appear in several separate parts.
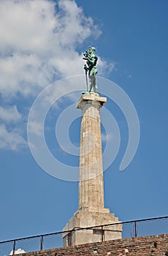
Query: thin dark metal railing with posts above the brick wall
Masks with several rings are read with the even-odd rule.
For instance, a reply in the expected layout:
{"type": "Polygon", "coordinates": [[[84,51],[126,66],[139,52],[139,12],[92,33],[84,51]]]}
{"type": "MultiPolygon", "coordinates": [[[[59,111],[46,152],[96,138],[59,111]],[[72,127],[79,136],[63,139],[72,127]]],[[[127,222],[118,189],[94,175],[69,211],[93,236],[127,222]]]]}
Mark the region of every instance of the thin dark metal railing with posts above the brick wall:
{"type": "MultiPolygon", "coordinates": [[[[99,228],[100,230],[102,230],[100,241],[104,241],[104,228],[105,227],[115,226],[115,225],[130,225],[130,224],[133,225],[133,227],[134,227],[134,235],[131,234],[131,237],[137,237],[138,236],[138,227],[137,227],[138,223],[159,221],[159,220],[163,220],[163,219],[165,219],[165,220],[168,219],[168,216],[148,218],[148,219],[136,219],[136,220],[126,221],[126,222],[116,222],[116,223],[107,224],[107,225],[97,225],[97,226],[84,227],[84,228],[75,228],[75,230],[66,230],[66,231],[60,231],[60,232],[54,232],[54,233],[46,233],[46,234],[42,234],[42,235],[38,235],[38,236],[28,236],[28,237],[24,237],[24,238],[0,241],[0,246],[1,246],[1,244],[11,243],[12,244],[12,252],[10,255],[15,255],[15,250],[16,250],[16,246],[17,246],[18,242],[29,240],[29,239],[39,238],[39,250],[42,250],[42,249],[44,249],[44,240],[45,240],[44,238],[47,238],[49,236],[54,236],[54,235],[64,235],[64,233],[66,233],[66,234],[69,233],[69,246],[71,246],[72,245],[72,232],[77,232],[80,230],[89,230],[89,229],[96,230],[96,228],[99,228]]],[[[168,221],[167,221],[167,232],[168,232],[168,221]]],[[[155,234],[157,235],[157,231],[155,234]]],[[[1,250],[0,250],[0,252],[1,252],[1,250]]]]}

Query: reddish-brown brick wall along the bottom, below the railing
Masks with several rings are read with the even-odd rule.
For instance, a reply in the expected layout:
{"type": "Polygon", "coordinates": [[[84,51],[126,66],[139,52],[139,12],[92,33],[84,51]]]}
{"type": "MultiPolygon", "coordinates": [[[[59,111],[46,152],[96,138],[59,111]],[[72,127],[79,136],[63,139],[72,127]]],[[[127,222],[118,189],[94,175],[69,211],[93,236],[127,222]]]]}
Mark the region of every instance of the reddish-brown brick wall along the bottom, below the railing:
{"type": "Polygon", "coordinates": [[[124,238],[92,244],[81,244],[65,248],[48,249],[29,252],[19,256],[78,256],[78,255],[110,255],[110,256],[168,256],[168,235],[124,238]]]}

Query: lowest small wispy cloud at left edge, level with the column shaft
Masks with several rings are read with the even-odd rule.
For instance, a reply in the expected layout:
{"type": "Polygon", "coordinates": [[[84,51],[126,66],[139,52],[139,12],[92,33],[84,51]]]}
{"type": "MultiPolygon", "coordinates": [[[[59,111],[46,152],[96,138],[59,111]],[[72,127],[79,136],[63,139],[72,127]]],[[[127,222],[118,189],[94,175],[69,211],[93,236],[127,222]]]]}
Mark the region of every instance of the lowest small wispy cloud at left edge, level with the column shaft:
{"type": "Polygon", "coordinates": [[[26,144],[26,141],[20,135],[20,131],[7,130],[4,124],[0,125],[0,148],[18,150],[26,144]]]}

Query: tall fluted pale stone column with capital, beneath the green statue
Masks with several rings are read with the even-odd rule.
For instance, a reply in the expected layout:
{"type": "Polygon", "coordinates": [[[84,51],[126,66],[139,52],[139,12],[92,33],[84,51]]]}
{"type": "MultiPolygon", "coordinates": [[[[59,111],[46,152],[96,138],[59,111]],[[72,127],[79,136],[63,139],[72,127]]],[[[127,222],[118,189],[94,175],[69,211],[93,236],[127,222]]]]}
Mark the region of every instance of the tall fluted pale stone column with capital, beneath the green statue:
{"type": "Polygon", "coordinates": [[[99,94],[84,94],[77,103],[82,110],[80,128],[79,210],[104,209],[102,140],[99,110],[107,101],[99,94]]]}

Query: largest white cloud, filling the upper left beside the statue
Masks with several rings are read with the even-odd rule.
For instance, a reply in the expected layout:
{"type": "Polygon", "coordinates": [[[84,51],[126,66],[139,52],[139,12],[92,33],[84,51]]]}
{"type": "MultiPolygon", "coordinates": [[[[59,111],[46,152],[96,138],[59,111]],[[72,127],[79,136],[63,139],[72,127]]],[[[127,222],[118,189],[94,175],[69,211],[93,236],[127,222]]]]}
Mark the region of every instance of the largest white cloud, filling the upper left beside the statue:
{"type": "Polygon", "coordinates": [[[0,89],[34,94],[56,78],[79,75],[75,48],[100,31],[75,1],[0,1],[0,89]]]}

